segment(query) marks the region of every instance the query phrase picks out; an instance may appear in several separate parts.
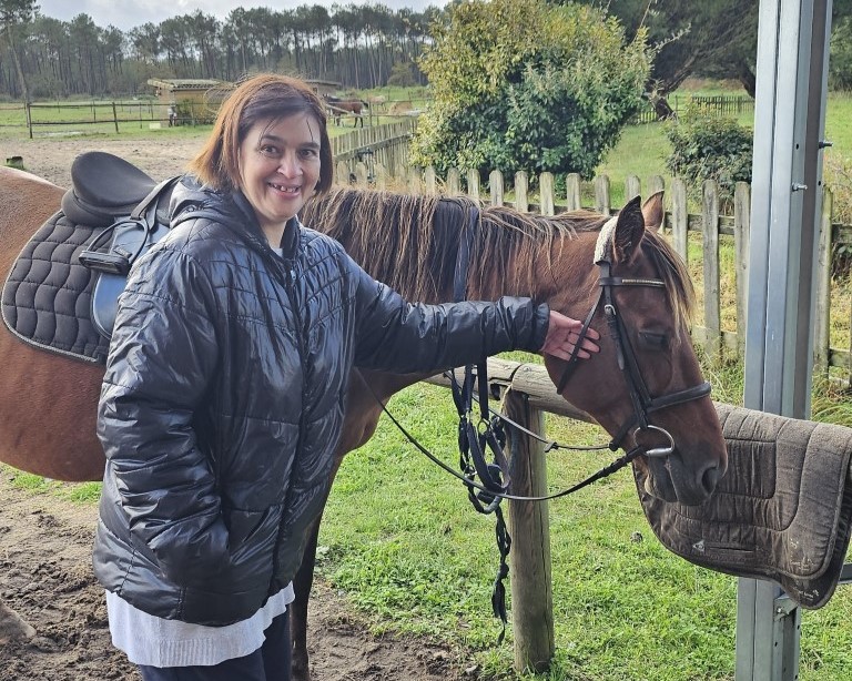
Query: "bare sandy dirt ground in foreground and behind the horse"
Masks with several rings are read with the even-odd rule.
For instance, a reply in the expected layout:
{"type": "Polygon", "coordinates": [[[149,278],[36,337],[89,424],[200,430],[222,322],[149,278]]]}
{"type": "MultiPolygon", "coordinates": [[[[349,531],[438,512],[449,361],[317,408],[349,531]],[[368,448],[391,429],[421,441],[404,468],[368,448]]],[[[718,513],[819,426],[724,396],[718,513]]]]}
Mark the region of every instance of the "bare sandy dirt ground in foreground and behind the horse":
{"type": "MultiPolygon", "coordinates": [[[[106,151],[155,180],[183,171],[203,138],[0,139],[0,163],[23,156],[26,170],[67,187],[71,163],[106,151]]],[[[0,186],[2,191],[2,186],[0,186]]],[[[138,680],[106,629],[102,590],[91,571],[97,509],[13,488],[0,471],[0,599],[37,630],[28,642],[0,646],[0,681],[138,680]]],[[[462,663],[426,641],[372,637],[343,600],[315,587],[308,648],[314,681],[438,681],[457,679],[462,663]]]]}

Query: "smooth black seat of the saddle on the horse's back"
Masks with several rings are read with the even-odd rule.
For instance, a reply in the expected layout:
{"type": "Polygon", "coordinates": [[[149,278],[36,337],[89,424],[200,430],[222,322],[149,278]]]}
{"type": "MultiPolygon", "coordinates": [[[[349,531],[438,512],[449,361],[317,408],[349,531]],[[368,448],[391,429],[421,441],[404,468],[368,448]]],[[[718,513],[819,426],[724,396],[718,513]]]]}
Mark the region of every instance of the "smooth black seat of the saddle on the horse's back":
{"type": "Polygon", "coordinates": [[[124,159],[85,152],[71,164],[71,189],[62,196],[62,212],[77,224],[105,227],[129,215],[155,185],[124,159]]]}

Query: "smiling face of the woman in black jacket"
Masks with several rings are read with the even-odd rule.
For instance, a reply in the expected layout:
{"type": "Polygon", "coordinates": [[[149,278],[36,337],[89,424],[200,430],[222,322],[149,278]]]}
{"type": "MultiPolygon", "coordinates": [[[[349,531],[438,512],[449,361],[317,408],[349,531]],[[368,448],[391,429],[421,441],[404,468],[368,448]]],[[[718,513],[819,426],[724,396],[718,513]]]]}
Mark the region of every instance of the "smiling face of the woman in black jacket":
{"type": "Polygon", "coordinates": [[[255,123],[240,145],[240,189],[272,246],[320,180],[320,123],[307,113],[255,123]]]}

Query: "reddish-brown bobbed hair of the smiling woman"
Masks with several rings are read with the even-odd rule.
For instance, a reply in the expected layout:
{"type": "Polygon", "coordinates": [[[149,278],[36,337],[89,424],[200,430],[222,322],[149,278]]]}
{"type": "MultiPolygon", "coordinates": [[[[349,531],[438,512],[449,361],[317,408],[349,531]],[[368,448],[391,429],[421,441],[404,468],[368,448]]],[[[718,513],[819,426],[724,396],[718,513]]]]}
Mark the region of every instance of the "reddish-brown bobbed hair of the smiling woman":
{"type": "Polygon", "coordinates": [[[199,179],[221,191],[240,186],[240,145],[258,121],[280,120],[297,113],[320,124],[320,181],[316,193],[328,191],[334,175],[332,144],[326,130],[325,106],[303,81],[287,75],[262,73],[240,83],[223,102],[213,132],[189,165],[199,179]]]}

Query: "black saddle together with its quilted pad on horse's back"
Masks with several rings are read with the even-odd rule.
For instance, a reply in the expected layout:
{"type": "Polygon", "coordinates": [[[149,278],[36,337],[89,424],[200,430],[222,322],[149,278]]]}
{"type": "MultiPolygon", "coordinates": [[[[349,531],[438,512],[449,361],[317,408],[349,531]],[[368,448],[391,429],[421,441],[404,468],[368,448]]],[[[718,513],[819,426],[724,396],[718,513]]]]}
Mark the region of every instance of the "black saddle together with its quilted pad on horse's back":
{"type": "Polygon", "coordinates": [[[176,180],[158,184],[103,152],[78,156],[61,210],[26,244],[2,285],[7,327],[40,349],[104,363],[128,272],[169,233],[176,180]]]}

